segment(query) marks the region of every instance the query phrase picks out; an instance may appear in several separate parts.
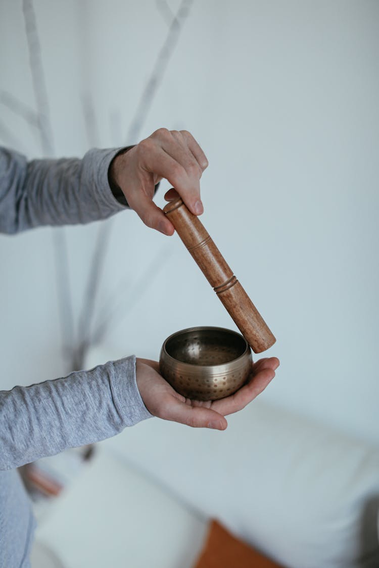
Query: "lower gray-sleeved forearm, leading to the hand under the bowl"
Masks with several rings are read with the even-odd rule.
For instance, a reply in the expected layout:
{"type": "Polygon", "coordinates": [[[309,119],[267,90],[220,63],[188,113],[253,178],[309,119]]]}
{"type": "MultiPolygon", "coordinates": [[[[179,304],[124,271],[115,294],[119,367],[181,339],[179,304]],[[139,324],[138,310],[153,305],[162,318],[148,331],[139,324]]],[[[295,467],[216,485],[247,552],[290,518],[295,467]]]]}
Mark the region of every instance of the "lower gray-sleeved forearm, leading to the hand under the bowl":
{"type": "Polygon", "coordinates": [[[0,470],[104,440],[150,416],[133,356],[0,391],[0,470]]]}

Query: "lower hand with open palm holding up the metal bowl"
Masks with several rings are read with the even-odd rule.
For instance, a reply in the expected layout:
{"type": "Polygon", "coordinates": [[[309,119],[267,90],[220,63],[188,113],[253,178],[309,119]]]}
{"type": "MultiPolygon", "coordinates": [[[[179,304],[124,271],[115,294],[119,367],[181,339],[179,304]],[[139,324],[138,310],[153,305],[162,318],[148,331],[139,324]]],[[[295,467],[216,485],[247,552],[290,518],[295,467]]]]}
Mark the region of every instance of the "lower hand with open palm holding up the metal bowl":
{"type": "Polygon", "coordinates": [[[137,359],[136,379],[145,407],[154,416],[194,428],[226,429],[224,416],[242,410],[255,399],[274,378],[279,366],[276,357],[263,358],[252,365],[248,382],[235,394],[221,400],[202,402],[178,394],[159,374],[159,363],[137,359]]]}

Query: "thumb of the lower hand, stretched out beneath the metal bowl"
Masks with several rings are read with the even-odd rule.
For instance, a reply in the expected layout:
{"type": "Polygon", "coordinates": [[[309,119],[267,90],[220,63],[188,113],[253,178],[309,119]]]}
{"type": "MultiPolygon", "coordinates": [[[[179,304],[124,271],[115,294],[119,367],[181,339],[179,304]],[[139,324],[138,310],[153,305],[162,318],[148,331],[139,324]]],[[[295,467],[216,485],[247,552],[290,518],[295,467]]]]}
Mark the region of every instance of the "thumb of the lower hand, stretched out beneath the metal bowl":
{"type": "Polygon", "coordinates": [[[165,420],[172,420],[180,424],[186,424],[191,428],[214,428],[216,430],[225,430],[227,428],[227,421],[215,410],[205,407],[188,406],[185,402],[174,398],[164,416],[165,420]]]}

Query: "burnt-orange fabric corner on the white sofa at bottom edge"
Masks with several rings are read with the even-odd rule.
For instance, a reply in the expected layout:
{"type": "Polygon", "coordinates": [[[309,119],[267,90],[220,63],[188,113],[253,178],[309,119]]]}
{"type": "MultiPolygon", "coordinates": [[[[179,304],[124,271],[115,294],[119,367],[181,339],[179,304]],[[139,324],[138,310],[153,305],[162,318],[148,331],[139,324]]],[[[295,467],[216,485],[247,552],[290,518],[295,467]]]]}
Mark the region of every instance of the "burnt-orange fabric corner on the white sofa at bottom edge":
{"type": "Polygon", "coordinates": [[[205,546],[194,568],[282,568],[211,521],[205,546]]]}

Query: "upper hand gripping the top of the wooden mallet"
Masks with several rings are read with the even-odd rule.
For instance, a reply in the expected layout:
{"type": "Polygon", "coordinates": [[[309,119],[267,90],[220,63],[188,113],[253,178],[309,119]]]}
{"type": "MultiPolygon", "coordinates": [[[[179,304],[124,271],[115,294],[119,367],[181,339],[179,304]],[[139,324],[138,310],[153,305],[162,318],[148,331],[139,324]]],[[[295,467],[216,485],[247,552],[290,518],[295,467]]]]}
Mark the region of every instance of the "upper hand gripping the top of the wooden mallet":
{"type": "MultiPolygon", "coordinates": [[[[110,177],[122,189],[128,205],[145,225],[165,235],[173,235],[173,224],[153,203],[155,185],[168,179],[194,215],[203,205],[199,180],[208,166],[205,153],[186,130],[160,128],[111,163],[110,177]]],[[[172,192],[166,194],[168,199],[172,192]]]]}

